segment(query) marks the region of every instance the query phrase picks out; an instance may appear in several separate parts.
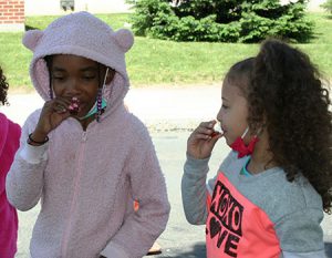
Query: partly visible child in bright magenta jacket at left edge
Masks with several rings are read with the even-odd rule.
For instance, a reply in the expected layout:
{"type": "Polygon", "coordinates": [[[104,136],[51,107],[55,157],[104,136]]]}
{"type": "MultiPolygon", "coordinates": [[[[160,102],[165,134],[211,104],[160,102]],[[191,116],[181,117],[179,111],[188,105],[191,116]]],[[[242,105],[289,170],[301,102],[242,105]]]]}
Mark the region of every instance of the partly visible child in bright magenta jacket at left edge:
{"type": "MultiPolygon", "coordinates": [[[[0,102],[7,104],[8,83],[0,68],[0,102]]],[[[7,199],[4,182],[20,144],[21,127],[0,113],[0,257],[13,258],[17,252],[18,214],[7,199]]]]}

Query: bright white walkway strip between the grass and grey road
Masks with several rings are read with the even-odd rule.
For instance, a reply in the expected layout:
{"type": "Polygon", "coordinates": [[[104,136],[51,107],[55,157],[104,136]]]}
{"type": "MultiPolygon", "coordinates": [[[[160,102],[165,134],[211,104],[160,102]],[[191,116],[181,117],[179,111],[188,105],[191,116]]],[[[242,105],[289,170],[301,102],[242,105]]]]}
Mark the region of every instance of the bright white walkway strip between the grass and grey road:
{"type": "MultiPolygon", "coordinates": [[[[8,99],[10,106],[3,106],[1,111],[20,124],[43,104],[37,93],[13,94],[8,99]]],[[[221,87],[207,85],[131,89],[125,103],[152,130],[188,128],[199,121],[216,117],[221,103],[221,87]]]]}

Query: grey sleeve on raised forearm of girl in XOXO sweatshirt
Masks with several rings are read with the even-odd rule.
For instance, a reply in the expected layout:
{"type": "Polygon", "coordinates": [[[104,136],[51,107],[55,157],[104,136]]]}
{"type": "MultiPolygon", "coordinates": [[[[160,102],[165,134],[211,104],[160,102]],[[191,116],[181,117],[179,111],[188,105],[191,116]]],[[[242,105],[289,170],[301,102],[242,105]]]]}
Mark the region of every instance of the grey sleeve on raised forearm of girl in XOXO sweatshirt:
{"type": "Polygon", "coordinates": [[[204,225],[207,218],[207,200],[209,193],[206,187],[209,157],[195,159],[187,155],[181,179],[183,206],[188,223],[204,225]]]}

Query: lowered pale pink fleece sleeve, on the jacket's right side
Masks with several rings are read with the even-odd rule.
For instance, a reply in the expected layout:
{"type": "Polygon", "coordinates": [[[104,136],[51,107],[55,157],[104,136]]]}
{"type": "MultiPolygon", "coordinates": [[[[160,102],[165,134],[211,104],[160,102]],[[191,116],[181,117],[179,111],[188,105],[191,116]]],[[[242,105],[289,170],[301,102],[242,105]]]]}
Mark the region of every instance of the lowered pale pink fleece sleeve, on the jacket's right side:
{"type": "Polygon", "coordinates": [[[105,257],[145,256],[164,231],[169,216],[165,178],[146,128],[133,144],[125,171],[129,175],[133,199],[138,200],[139,208],[126,217],[117,234],[101,252],[105,257]]]}

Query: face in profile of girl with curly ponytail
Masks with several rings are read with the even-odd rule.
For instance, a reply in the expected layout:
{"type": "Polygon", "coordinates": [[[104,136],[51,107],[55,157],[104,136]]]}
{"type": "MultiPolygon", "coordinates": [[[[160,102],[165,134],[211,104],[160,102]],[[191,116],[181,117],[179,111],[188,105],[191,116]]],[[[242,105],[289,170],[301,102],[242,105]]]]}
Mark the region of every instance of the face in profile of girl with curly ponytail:
{"type": "MultiPolygon", "coordinates": [[[[221,91],[222,105],[217,115],[217,120],[221,122],[221,128],[226,143],[231,145],[235,140],[243,134],[248,126],[248,107],[247,100],[242,91],[231,85],[228,80],[224,81],[221,91]]],[[[245,143],[247,137],[245,137],[245,143]]]]}

